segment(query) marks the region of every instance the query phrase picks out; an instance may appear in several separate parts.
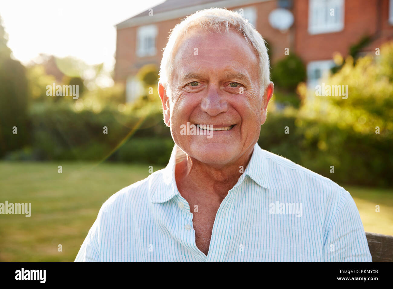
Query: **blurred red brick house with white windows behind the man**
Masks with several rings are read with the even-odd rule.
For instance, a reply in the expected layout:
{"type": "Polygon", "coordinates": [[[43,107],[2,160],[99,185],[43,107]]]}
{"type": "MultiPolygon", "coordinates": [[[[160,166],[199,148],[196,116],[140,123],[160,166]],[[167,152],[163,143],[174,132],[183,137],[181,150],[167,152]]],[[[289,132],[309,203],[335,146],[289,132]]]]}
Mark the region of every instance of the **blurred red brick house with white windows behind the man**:
{"type": "Polygon", "coordinates": [[[167,0],[116,25],[114,80],[126,85],[127,101],[140,92],[138,70],[146,64],[160,66],[170,29],[180,19],[210,7],[242,13],[268,41],[272,64],[285,57],[285,48],[294,51],[307,66],[309,83],[330,69],[334,52],[347,55],[364,35],[373,37],[364,52],[393,40],[393,0],[167,0]],[[294,16],[289,29],[271,26],[269,15],[277,8],[294,16]]]}

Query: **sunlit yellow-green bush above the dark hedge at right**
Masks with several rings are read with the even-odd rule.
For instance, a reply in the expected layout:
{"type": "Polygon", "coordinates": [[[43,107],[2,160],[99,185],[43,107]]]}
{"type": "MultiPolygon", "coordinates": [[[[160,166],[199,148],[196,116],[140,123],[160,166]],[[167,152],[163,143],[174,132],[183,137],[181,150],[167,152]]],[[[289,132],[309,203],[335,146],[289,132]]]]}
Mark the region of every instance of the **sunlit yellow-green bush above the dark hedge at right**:
{"type": "Polygon", "coordinates": [[[324,83],[332,91],[340,86],[347,95],[316,96],[315,90],[309,91],[301,115],[362,134],[375,134],[377,126],[382,136],[392,133],[393,42],[384,44],[380,55],[366,55],[355,64],[348,56],[342,69],[324,83]]]}

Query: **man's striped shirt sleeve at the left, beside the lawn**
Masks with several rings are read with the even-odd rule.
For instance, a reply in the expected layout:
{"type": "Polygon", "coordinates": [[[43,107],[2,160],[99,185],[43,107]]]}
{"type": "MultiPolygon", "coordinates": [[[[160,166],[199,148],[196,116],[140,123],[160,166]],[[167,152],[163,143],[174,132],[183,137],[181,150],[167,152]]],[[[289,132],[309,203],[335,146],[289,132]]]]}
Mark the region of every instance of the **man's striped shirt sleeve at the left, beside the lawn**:
{"type": "Polygon", "coordinates": [[[99,262],[100,254],[99,254],[99,246],[98,246],[98,236],[99,236],[99,212],[97,219],[95,220],[93,226],[90,228],[86,238],[83,241],[81,249],[75,258],[74,262],[99,262]]]}

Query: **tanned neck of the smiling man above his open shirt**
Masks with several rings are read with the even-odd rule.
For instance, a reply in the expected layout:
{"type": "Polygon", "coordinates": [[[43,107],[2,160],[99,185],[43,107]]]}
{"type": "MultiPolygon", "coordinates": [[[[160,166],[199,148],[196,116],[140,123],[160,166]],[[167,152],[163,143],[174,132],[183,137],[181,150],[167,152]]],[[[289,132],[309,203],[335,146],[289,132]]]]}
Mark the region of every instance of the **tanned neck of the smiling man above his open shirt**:
{"type": "Polygon", "coordinates": [[[211,166],[187,156],[176,164],[175,169],[176,184],[180,193],[183,195],[183,192],[192,191],[201,194],[201,197],[224,199],[248,165],[252,152],[253,147],[235,162],[223,166],[211,166]]]}

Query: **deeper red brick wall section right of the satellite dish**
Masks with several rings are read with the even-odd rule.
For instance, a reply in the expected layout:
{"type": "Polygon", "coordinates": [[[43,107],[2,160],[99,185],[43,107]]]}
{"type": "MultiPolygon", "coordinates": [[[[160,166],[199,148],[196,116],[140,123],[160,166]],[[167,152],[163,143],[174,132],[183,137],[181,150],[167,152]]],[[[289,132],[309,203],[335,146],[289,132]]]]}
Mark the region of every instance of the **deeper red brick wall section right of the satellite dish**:
{"type": "Polygon", "coordinates": [[[344,29],[340,32],[310,35],[308,32],[309,0],[294,1],[295,50],[309,61],[331,59],[332,53],[348,55],[349,47],[365,34],[380,37],[364,51],[374,51],[381,42],[393,39],[393,26],[388,23],[389,0],[345,0],[344,29]]]}

